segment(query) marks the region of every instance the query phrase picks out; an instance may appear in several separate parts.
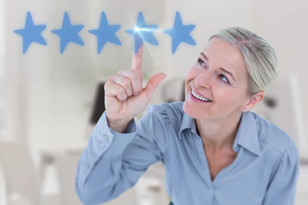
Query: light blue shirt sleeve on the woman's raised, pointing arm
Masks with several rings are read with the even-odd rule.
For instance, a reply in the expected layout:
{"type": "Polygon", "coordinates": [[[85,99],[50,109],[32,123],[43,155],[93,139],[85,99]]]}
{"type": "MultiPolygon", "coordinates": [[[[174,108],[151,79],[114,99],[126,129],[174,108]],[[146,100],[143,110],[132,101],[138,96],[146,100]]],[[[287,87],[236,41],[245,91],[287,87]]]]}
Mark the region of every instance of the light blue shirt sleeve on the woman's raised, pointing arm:
{"type": "Polygon", "coordinates": [[[133,187],[150,165],[162,161],[158,142],[166,136],[168,122],[162,106],[151,105],[137,124],[132,119],[125,133],[118,133],[108,127],[104,112],[76,169],[80,200],[101,204],[133,187]]]}

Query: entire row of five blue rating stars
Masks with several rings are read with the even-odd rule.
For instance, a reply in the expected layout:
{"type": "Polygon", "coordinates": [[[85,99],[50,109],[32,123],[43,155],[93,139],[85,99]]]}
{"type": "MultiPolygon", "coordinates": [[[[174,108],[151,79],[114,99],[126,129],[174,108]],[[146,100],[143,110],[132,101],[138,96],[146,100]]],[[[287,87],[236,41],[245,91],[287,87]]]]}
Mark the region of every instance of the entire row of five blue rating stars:
{"type": "MultiPolygon", "coordinates": [[[[163,30],[172,38],[172,54],[176,52],[179,45],[183,42],[196,46],[195,40],[190,36],[190,32],[195,29],[195,25],[183,25],[181,15],[176,13],[174,28],[163,30]]],[[[14,30],[16,34],[23,37],[23,54],[25,54],[32,43],[37,43],[46,46],[47,42],[42,36],[42,32],[47,28],[46,25],[34,25],[32,15],[27,12],[26,23],[24,29],[14,30]]],[[[69,14],[64,12],[62,28],[51,30],[51,33],[60,38],[60,54],[63,54],[69,43],[84,46],[79,32],[84,28],[83,25],[73,25],[69,14]]],[[[109,25],[105,12],[101,14],[99,28],[89,30],[90,34],[97,37],[97,53],[100,54],[107,42],[121,46],[122,43],[117,37],[117,32],[121,25],[109,25]]],[[[146,25],[142,12],[138,14],[137,25],[135,28],[126,30],[125,32],[134,37],[134,51],[138,52],[143,43],[149,43],[158,46],[158,40],[153,36],[153,32],[158,29],[158,25],[146,25]]]]}

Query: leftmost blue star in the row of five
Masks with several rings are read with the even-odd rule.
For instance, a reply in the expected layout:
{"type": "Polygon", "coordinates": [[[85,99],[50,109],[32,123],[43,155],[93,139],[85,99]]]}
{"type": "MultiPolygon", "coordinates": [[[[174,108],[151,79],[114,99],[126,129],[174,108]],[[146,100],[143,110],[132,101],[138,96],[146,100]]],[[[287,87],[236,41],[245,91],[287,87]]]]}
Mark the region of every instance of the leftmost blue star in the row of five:
{"type": "Polygon", "coordinates": [[[24,29],[14,30],[23,36],[23,54],[25,54],[32,42],[46,46],[46,40],[42,36],[42,31],[46,29],[46,25],[34,25],[30,12],[27,12],[26,24],[24,29]]]}

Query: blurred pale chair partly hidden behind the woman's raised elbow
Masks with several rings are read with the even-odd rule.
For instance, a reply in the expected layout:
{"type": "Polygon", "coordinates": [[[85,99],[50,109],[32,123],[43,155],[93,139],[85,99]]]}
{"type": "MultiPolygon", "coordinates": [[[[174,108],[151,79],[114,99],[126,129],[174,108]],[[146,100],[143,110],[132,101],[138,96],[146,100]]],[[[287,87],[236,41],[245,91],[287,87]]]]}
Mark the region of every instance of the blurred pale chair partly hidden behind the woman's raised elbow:
{"type": "MultiPolygon", "coordinates": [[[[55,154],[54,163],[59,177],[61,205],[81,205],[77,194],[75,193],[75,174],[76,168],[83,150],[71,150],[55,154]]],[[[118,198],[103,203],[105,205],[137,205],[136,191],[134,188],[127,190],[118,198]]]]}

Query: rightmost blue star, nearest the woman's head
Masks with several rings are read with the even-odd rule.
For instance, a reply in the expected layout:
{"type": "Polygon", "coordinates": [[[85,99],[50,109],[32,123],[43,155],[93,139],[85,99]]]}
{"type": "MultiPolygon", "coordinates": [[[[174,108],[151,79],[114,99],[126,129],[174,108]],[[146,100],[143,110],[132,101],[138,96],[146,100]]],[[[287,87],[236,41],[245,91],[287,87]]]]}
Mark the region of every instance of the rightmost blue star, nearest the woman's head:
{"type": "Polygon", "coordinates": [[[177,11],[173,29],[163,30],[164,33],[172,37],[172,54],[174,54],[181,42],[196,46],[195,40],[190,36],[190,32],[195,29],[195,25],[183,25],[180,13],[177,11]]]}

